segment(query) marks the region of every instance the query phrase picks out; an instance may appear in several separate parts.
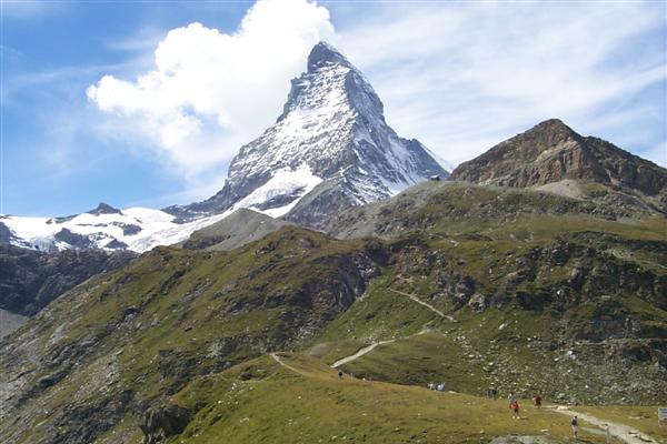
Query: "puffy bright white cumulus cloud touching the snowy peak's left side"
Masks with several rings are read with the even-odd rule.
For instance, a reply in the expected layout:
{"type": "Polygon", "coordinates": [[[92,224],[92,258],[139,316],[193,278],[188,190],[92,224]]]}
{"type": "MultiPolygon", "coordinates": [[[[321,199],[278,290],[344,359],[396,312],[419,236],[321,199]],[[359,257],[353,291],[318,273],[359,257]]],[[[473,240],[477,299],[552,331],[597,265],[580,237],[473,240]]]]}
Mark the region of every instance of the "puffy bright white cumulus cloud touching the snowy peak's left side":
{"type": "Polygon", "coordinates": [[[289,80],[305,70],[319,40],[336,40],[327,9],[307,0],[261,0],[235,33],[197,22],[171,30],[155,51],[155,69],[135,80],[104,75],[87,95],[197,179],[272,123],[289,80]]]}

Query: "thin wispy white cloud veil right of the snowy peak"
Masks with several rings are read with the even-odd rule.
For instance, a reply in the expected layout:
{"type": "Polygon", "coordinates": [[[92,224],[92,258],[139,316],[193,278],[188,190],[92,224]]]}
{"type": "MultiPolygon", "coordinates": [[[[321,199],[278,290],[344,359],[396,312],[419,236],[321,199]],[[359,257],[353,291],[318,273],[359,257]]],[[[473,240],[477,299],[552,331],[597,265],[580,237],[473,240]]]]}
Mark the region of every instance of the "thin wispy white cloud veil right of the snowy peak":
{"type": "Polygon", "coordinates": [[[636,125],[647,104],[665,121],[664,98],[637,99],[665,82],[665,43],[655,36],[664,36],[664,4],[392,3],[337,12],[365,18],[337,23],[340,44],[371,80],[388,122],[452,163],[551,117],[629,141],[628,150],[655,144],[647,133],[664,140],[660,128],[636,125]]]}

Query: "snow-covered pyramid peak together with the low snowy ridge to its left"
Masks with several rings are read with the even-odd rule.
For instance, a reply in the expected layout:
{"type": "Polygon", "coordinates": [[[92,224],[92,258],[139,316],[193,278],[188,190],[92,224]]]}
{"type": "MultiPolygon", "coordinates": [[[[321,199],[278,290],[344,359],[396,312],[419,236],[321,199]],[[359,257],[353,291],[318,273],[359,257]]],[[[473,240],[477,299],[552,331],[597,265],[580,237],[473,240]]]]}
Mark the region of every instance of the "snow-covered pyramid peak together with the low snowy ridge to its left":
{"type": "Polygon", "coordinates": [[[291,81],[276,124],[240,149],[222,190],[165,210],[101,203],[69,218],[0,215],[0,242],[40,250],[143,252],[246,208],[315,228],[355,205],[389,198],[447,171],[417,140],[387,124],[368,80],[340,52],[318,43],[291,81]]]}

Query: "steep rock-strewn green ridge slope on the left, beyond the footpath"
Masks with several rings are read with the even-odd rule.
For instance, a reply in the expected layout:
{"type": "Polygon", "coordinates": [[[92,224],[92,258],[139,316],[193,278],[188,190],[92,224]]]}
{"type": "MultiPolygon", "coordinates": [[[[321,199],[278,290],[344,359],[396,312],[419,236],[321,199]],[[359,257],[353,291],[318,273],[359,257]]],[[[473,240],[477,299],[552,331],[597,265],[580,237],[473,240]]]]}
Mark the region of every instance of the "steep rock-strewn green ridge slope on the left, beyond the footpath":
{"type": "Polygon", "coordinates": [[[197,375],[312,337],[382,258],[374,242],[296,228],[232,252],[155,249],[0,342],[0,441],[82,444],[117,426],[141,435],[139,424],[150,434],[172,417],[158,405],[197,375]]]}

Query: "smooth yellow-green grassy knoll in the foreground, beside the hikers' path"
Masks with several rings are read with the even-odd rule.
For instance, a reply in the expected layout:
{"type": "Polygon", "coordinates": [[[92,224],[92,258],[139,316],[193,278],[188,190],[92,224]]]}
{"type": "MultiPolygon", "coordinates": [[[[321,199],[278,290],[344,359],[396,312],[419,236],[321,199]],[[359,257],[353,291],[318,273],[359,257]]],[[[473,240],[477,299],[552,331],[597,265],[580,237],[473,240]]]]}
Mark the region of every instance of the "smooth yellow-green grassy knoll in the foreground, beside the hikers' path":
{"type": "MultiPolygon", "coordinates": [[[[188,428],[170,443],[462,443],[494,436],[547,436],[569,442],[568,418],[522,402],[512,420],[505,401],[380,382],[338,380],[336,372],[303,355],[282,357],[303,375],[268,357],[251,365],[262,377],[242,381],[243,365],[199,379],[176,397],[199,407],[188,428]]],[[[250,364],[248,364],[250,365],[250,364]]],[[[583,433],[583,442],[600,443],[583,433]]]]}

